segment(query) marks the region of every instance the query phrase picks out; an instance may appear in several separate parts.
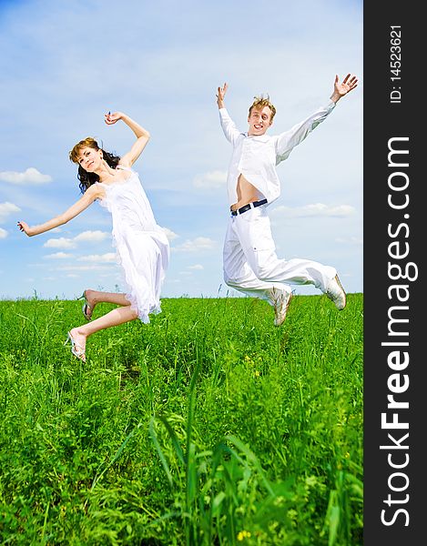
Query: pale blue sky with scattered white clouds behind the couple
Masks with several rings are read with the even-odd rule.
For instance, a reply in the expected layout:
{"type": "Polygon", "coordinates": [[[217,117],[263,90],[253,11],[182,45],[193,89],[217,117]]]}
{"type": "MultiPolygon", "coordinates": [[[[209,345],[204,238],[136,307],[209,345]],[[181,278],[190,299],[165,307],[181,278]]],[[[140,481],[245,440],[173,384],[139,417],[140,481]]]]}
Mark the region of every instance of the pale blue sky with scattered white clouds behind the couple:
{"type": "Polygon", "coordinates": [[[360,85],[280,164],[281,196],[269,215],[280,258],[332,265],[347,291],[363,290],[360,1],[3,1],[0,45],[0,298],[122,288],[111,220],[97,203],[34,238],[16,227],[78,199],[68,160],[78,140],[95,136],[127,152],[133,134],[106,126],[107,110],[151,133],[135,168],[170,240],[163,297],[225,295],[231,149],[217,87],[229,83],[226,106],[242,131],[253,96],[269,93],[276,134],[325,104],[335,74],[348,72],[360,85]]]}

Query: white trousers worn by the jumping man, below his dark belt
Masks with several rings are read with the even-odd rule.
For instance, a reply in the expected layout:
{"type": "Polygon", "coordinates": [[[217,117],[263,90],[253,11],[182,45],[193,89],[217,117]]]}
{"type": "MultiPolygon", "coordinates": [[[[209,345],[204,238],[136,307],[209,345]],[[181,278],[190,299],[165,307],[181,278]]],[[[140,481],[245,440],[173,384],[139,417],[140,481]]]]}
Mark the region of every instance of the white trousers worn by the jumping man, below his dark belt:
{"type": "Polygon", "coordinates": [[[265,205],[231,216],[223,249],[224,280],[231,288],[272,305],[271,288],[291,291],[289,284],[314,285],[326,292],[335,268],[310,259],[280,259],[265,205]]]}

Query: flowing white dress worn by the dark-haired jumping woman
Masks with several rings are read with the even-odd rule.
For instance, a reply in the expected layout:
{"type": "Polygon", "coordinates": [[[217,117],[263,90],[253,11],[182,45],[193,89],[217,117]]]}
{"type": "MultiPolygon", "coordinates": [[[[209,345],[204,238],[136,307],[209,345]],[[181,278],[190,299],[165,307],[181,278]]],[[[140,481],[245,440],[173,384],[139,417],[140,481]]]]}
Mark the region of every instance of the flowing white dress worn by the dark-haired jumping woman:
{"type": "Polygon", "coordinates": [[[99,199],[113,218],[113,245],[117,261],[124,270],[126,297],[142,322],[149,322],[149,313],[159,313],[160,290],[169,261],[169,243],[158,226],[137,173],[130,172],[123,182],[102,184],[105,197],[99,199]]]}

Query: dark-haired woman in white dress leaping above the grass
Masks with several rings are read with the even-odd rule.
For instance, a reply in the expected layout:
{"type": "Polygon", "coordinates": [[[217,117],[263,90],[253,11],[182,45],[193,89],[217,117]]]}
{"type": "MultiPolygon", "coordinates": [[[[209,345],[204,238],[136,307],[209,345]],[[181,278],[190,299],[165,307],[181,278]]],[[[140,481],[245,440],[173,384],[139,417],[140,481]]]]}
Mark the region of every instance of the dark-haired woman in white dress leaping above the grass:
{"type": "Polygon", "coordinates": [[[106,207],[113,220],[113,244],[118,262],[124,270],[126,293],[117,294],[86,289],[83,314],[85,325],[70,329],[66,342],[77,359],[86,362],[86,339],[95,332],[139,318],[149,322],[150,313],[160,312],[160,289],[168,268],[168,238],[158,226],[137,172],[131,169],[149,140],[149,133],[122,112],[105,115],[107,125],[122,120],[137,136],[137,141],[123,157],[98,147],[87,137],[70,151],[69,158],[78,165],[77,178],[83,196],[66,212],[40,226],[29,227],[24,221],[18,227],[29,237],[62,226],[83,212],[96,199],[106,207]],[[92,319],[98,303],[113,303],[119,308],[92,319]]]}

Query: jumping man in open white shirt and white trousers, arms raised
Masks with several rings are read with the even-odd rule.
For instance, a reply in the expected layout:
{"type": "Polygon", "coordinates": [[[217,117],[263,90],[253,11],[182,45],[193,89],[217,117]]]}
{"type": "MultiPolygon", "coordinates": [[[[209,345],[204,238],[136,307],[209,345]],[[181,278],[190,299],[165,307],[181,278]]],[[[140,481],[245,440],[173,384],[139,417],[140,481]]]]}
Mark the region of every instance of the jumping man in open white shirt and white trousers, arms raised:
{"type": "Polygon", "coordinates": [[[276,114],[269,97],[255,97],[249,107],[248,132],[241,133],[224,105],[228,85],[218,87],[220,123],[233,146],[227,180],[231,215],[223,249],[224,280],[231,288],[267,300],[274,308],[276,326],[283,323],[290,305],[292,292],[288,283],[314,285],[338,309],[345,308],[346,294],[335,268],[310,259],[277,257],[267,207],[280,196],[276,166],[357,83],[357,77],[350,74],[341,83],[335,76],[329,103],[277,136],[267,135],[276,114]]]}

